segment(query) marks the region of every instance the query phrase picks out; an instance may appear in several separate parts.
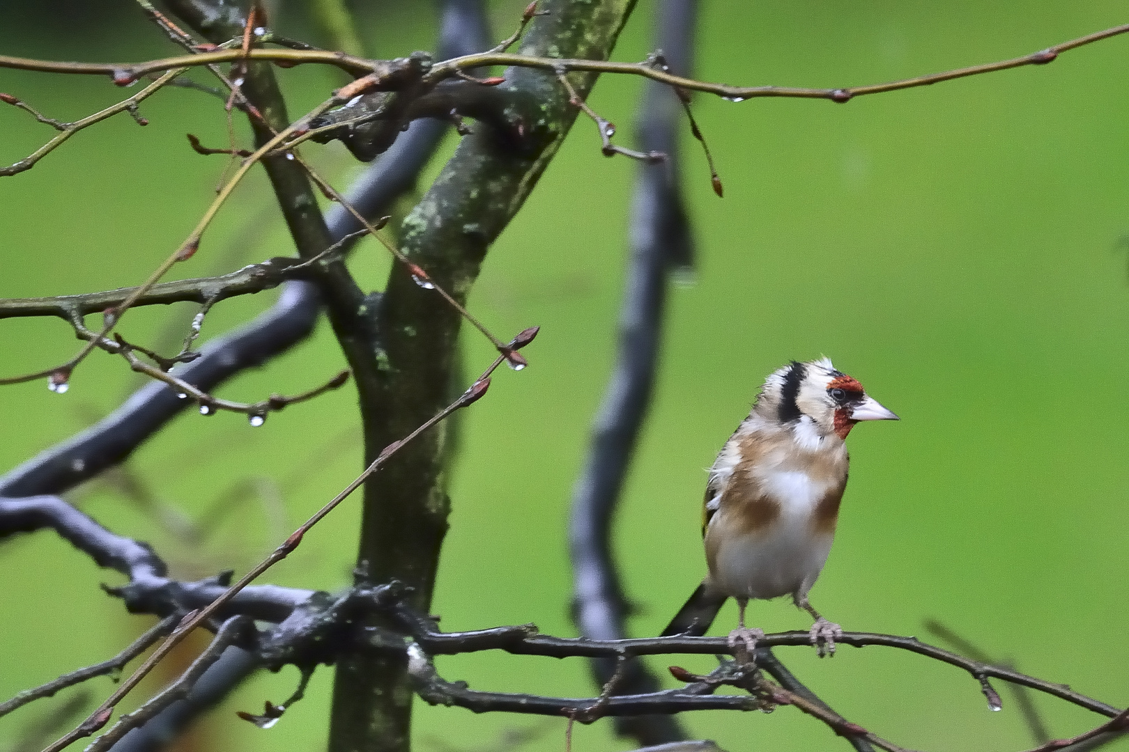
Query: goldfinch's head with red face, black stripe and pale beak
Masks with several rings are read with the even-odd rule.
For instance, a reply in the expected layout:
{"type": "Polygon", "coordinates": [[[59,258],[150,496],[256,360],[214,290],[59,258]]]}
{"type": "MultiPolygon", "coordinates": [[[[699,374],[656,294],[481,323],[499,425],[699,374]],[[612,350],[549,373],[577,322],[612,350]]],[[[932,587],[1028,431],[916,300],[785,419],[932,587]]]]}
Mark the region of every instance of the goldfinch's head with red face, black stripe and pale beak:
{"type": "Polygon", "coordinates": [[[840,439],[860,421],[898,419],[826,357],[793,361],[774,371],[764,382],[754,410],[780,424],[809,422],[820,435],[834,433],[840,439]]]}

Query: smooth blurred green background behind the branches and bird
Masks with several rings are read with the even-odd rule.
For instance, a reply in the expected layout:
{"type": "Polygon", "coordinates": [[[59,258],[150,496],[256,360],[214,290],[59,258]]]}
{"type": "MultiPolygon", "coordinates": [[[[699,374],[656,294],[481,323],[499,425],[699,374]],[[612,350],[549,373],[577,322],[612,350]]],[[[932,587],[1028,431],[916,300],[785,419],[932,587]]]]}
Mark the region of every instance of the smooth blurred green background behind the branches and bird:
{"type": "MultiPolygon", "coordinates": [[[[275,27],[325,43],[300,5],[283,1],[275,27]]],[[[131,3],[107,6],[6,2],[2,52],[98,61],[174,53],[131,3]]],[[[434,47],[429,3],[365,6],[358,23],[374,54],[434,47]]],[[[497,36],[523,6],[491,3],[497,36]]],[[[653,11],[640,2],[616,59],[640,60],[650,50],[653,11]]],[[[1025,54],[1127,20],[1124,3],[1112,0],[703,2],[697,73],[747,85],[868,83],[1025,54]]],[[[1129,475],[1121,459],[1129,418],[1121,381],[1129,369],[1127,51],[1129,37],[1117,37],[1052,65],[848,105],[695,100],[726,195],[710,192],[688,133],[697,280],[669,299],[657,397],[616,525],[625,583],[639,604],[636,635],[657,634],[702,575],[703,468],[764,375],[789,359],[826,354],[902,421],[851,435],[852,480],[812,593],[817,608],[847,629],[894,634],[924,636],[922,621],[937,618],[1025,672],[1129,704],[1129,475]]],[[[279,74],[292,114],[341,82],[313,67],[279,74]]],[[[121,96],[103,78],[8,70],[0,70],[0,90],[60,118],[121,96]]],[[[620,124],[624,143],[639,92],[638,80],[605,77],[592,98],[620,124]]],[[[29,172],[0,180],[0,295],[137,284],[185,237],[213,195],[224,158],[196,156],[184,133],[221,145],[221,105],[167,90],[141,113],[150,121],[143,130],[117,116],[29,172]]],[[[0,134],[0,161],[8,163],[52,132],[6,108],[0,134]]],[[[453,148],[450,140],[445,153],[453,148]]],[[[338,186],[359,171],[342,149],[306,153],[338,186]]],[[[489,398],[464,416],[435,601],[446,629],[534,621],[574,634],[563,530],[614,352],[634,169],[602,157],[592,124],[578,121],[491,249],[471,297],[470,308],[504,336],[534,324],[542,334],[528,350],[531,368],[500,373],[489,398]]],[[[265,179],[255,174],[201,251],[176,271],[207,275],[289,253],[265,179]]],[[[367,241],[352,266],[378,287],[387,262],[367,241]]],[[[204,336],[246,320],[273,295],[222,303],[204,336]]],[[[137,310],[123,331],[143,343],[173,342],[192,312],[186,304],[137,310]]],[[[0,338],[5,375],[61,362],[77,347],[54,320],[7,320],[0,338]]],[[[476,371],[489,348],[473,333],[465,342],[476,371]]],[[[298,391],[342,362],[322,324],[309,342],[219,393],[255,400],[298,391]]],[[[137,384],[121,361],[96,353],[64,396],[43,382],[6,387],[0,468],[88,425],[137,384]]],[[[113,530],[154,542],[181,576],[245,570],[359,470],[355,406],[345,388],[272,415],[263,428],[230,414],[189,413],[140,450],[115,484],[90,484],[72,498],[113,530]],[[123,478],[148,492],[124,493],[123,478]],[[217,501],[228,514],[207,540],[176,534],[217,501]]],[[[344,586],[358,501],[318,525],[270,580],[344,586]]],[[[5,542],[0,572],[0,698],[107,657],[151,622],[125,614],[98,589],[120,582],[116,574],[52,534],[5,542]]],[[[807,627],[785,601],[756,603],[751,613],[768,630],[807,627]]],[[[734,618],[730,605],[715,631],[734,618]]],[[[989,713],[975,682],[955,669],[875,647],[842,648],[823,661],[811,649],[780,654],[848,718],[905,746],[1031,746],[1012,697],[1004,695],[1001,713],[989,713]]],[[[667,663],[654,667],[665,674],[667,663]]],[[[707,670],[711,658],[679,663],[707,670]]],[[[479,689],[593,693],[579,660],[478,654],[443,658],[439,669],[479,689]]],[[[250,681],[196,729],[196,746],[322,747],[329,669],[272,731],[233,714],[266,698],[281,701],[296,678],[290,667],[250,681]]],[[[91,687],[98,698],[111,689],[106,680],[91,687]]],[[[1059,736],[1100,722],[1050,698],[1035,704],[1059,736]]],[[[563,720],[417,707],[420,750],[495,749],[514,729],[532,729],[525,749],[563,749],[563,720]]],[[[47,710],[40,702],[0,720],[0,745],[15,743],[47,710]]],[[[683,719],[734,751],[846,749],[791,708],[683,719]]],[[[629,747],[607,720],[578,727],[574,737],[584,752],[629,747]]],[[[1110,749],[1129,750],[1129,742],[1110,749]]]]}

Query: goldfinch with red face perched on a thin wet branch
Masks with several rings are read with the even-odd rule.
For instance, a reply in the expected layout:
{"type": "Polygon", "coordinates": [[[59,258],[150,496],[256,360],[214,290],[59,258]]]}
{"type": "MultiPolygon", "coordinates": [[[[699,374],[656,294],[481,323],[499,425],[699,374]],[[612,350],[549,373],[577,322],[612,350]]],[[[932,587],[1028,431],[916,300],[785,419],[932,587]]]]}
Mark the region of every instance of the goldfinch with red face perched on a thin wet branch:
{"type": "Polygon", "coordinates": [[[752,656],[764,632],[745,626],[749,601],[791,595],[815,620],[817,655],[833,655],[842,628],[820,616],[807,593],[834,538],[847,487],[844,441],[857,423],[898,419],[826,357],[772,372],[709,469],[702,499],[709,574],[663,636],[703,635],[734,598],[737,628],[728,644],[752,656]]]}

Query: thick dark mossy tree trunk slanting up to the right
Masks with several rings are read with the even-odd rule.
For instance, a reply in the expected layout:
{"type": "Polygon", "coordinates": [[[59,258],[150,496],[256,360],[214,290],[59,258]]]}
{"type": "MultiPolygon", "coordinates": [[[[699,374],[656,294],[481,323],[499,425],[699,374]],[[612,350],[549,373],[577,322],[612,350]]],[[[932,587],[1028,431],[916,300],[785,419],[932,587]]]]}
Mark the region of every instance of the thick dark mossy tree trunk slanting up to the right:
{"type": "MultiPolygon", "coordinates": [[[[606,60],[633,0],[548,0],[519,43],[525,54],[606,60]]],[[[520,209],[557,153],[576,108],[555,77],[510,70],[507,120],[519,142],[479,126],[404,220],[403,250],[435,282],[465,301],[490,244],[520,209]]],[[[581,96],[594,76],[570,79],[581,96]]],[[[457,369],[461,318],[396,265],[385,292],[369,299],[376,347],[373,378],[361,379],[366,461],[438,413],[457,369]]],[[[431,603],[450,501],[444,472],[449,428],[439,425],[399,452],[365,486],[358,576],[411,586],[412,604],[431,603]]],[[[412,691],[402,655],[356,653],[336,666],[331,752],[408,752],[412,691]]]]}

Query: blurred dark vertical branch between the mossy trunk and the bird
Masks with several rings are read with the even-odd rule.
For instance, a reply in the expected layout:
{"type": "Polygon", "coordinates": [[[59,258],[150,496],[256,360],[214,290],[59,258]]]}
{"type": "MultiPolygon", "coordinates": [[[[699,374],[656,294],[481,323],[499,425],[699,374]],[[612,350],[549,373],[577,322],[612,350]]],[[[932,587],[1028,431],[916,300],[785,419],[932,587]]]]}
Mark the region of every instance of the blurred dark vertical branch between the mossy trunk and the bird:
{"type": "MultiPolygon", "coordinates": [[[[697,2],[665,0],[658,9],[656,42],[677,72],[693,57],[697,2]]],[[[620,309],[619,348],[595,419],[587,459],[572,489],[569,559],[572,564],[572,620],[580,634],[597,639],[627,635],[631,604],[612,554],[612,521],[623,480],[654,393],[665,318],[667,273],[689,263],[693,241],[680,191],[677,132],[681,108],[674,92],[651,83],[636,116],[640,149],[663,152],[666,160],[639,166],[630,215],[631,255],[620,309]]],[[[616,662],[592,662],[597,685],[616,671],[616,662]]],[[[639,661],[622,669],[618,695],[657,691],[658,679],[639,661]]],[[[616,732],[641,745],[684,740],[672,717],[616,718],[616,732]]]]}

